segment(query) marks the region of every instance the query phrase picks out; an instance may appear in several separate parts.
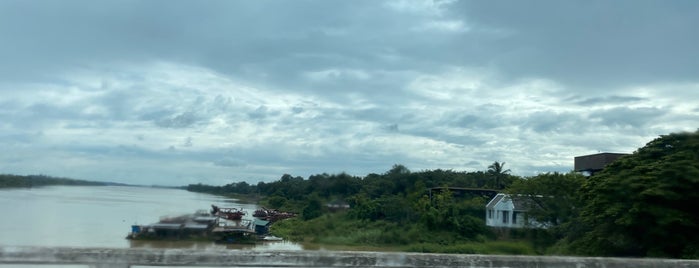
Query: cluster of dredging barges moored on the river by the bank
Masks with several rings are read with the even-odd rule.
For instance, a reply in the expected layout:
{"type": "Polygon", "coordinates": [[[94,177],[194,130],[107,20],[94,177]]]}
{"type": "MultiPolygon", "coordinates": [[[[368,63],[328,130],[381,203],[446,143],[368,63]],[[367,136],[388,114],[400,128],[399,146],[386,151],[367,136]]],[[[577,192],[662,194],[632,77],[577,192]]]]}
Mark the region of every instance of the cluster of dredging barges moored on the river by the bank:
{"type": "Polygon", "coordinates": [[[163,217],[150,225],[132,225],[126,237],[134,240],[208,240],[222,243],[254,243],[278,241],[269,235],[269,226],[278,220],[296,214],[277,210],[258,209],[253,219],[243,219],[243,209],[211,205],[211,211],[198,210],[194,214],[163,217]]]}

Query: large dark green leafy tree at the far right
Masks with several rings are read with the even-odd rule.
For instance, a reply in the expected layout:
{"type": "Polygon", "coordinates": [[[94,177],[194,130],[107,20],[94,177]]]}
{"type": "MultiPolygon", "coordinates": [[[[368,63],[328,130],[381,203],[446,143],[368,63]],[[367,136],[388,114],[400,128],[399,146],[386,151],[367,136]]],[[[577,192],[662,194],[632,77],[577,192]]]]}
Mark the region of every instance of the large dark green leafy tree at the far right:
{"type": "Polygon", "coordinates": [[[570,248],[699,258],[699,131],[663,135],[590,177],[570,248]]]}

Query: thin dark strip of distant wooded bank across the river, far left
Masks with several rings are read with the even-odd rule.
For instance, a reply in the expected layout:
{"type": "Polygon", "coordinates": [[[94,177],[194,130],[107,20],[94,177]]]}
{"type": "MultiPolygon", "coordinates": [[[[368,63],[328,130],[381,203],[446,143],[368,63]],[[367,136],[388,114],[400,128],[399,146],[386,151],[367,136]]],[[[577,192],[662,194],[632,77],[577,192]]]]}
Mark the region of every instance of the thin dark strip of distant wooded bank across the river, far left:
{"type": "Polygon", "coordinates": [[[83,185],[103,186],[112,185],[105,182],[74,180],[68,178],[56,178],[45,175],[9,175],[0,174],[0,188],[31,188],[49,185],[83,185]]]}

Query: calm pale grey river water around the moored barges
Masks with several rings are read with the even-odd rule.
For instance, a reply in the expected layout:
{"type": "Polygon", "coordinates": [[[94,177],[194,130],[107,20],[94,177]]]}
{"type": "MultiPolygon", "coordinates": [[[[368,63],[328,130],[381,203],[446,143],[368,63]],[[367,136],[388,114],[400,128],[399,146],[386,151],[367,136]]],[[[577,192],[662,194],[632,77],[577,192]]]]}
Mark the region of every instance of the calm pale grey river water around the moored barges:
{"type": "MultiPolygon", "coordinates": [[[[210,242],[130,241],[132,224],[150,224],[162,216],[209,210],[211,205],[257,208],[214,195],[177,189],[122,186],[50,186],[0,190],[0,245],[75,247],[152,247],[195,249],[284,249],[301,246],[276,242],[220,245],[210,242]]],[[[249,217],[249,215],[248,215],[249,217]]]]}

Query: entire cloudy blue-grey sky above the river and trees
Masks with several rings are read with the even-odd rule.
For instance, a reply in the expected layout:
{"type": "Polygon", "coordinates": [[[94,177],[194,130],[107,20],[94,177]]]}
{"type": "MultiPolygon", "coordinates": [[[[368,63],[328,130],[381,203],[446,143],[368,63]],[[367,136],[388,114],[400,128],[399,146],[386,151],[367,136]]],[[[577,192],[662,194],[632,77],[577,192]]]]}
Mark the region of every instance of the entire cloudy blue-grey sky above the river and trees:
{"type": "Polygon", "coordinates": [[[699,1],[0,1],[0,173],[568,172],[699,128],[699,1]]]}

